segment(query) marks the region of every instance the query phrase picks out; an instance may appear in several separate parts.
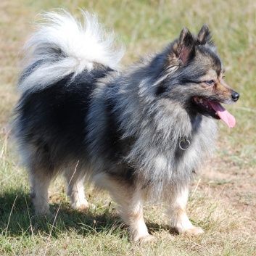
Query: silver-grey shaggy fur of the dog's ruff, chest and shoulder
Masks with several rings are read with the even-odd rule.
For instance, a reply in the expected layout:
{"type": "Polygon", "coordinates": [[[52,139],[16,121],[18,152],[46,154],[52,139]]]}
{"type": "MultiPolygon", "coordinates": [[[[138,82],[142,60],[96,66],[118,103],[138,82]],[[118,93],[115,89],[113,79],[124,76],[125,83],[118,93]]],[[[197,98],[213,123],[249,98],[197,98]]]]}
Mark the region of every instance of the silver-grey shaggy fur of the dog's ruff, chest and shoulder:
{"type": "MultiPolygon", "coordinates": [[[[159,200],[168,195],[168,187],[177,189],[187,186],[192,178],[192,170],[197,170],[207,154],[212,152],[217,133],[217,123],[213,119],[199,115],[193,122],[189,113],[183,109],[181,101],[182,88],[176,88],[174,99],[156,99],[154,96],[155,70],[150,70],[152,59],[143,59],[139,64],[125,70],[125,75],[100,81],[94,94],[93,106],[88,117],[91,157],[97,159],[101,146],[101,133],[104,132],[107,120],[106,105],[102,99],[115,102],[122,139],[136,138],[133,147],[123,157],[123,162],[136,169],[136,174],[145,183],[150,183],[151,199],[159,200]],[[142,78],[142,79],[141,79],[142,78]],[[118,88],[115,93],[109,90],[110,84],[118,88]],[[152,88],[153,87],[153,88],[152,88]],[[97,117],[97,119],[95,119],[97,117]],[[191,146],[183,154],[184,160],[177,160],[178,142],[183,137],[191,138],[191,146]],[[99,140],[99,141],[98,141],[99,140]],[[157,161],[165,161],[160,166],[157,161]]],[[[183,98],[183,99],[182,99],[183,98]]],[[[104,169],[105,162],[99,165],[104,169]]]]}

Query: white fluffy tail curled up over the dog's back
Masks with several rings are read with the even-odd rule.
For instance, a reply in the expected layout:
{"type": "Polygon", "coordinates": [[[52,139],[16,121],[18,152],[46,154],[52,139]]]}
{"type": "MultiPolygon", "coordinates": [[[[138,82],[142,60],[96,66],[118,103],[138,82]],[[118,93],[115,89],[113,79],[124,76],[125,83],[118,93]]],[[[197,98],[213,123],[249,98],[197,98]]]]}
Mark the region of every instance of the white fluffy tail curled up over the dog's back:
{"type": "Polygon", "coordinates": [[[38,31],[24,46],[25,69],[19,91],[38,91],[65,78],[92,70],[94,63],[116,69],[124,49],[117,49],[113,32],[106,32],[95,15],[81,10],[83,23],[68,12],[46,12],[38,31]]]}

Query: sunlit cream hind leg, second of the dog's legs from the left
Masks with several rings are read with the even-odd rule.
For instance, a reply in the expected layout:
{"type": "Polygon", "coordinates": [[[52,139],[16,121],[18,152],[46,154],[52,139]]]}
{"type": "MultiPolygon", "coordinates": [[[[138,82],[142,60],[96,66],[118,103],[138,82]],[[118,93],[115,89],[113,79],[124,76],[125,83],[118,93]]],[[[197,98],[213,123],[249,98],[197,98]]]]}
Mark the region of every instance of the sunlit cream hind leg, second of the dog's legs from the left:
{"type": "Polygon", "coordinates": [[[85,173],[80,169],[67,168],[65,170],[65,178],[67,181],[67,195],[70,197],[71,206],[75,209],[88,209],[89,203],[84,194],[83,183],[85,180],[85,173]]]}

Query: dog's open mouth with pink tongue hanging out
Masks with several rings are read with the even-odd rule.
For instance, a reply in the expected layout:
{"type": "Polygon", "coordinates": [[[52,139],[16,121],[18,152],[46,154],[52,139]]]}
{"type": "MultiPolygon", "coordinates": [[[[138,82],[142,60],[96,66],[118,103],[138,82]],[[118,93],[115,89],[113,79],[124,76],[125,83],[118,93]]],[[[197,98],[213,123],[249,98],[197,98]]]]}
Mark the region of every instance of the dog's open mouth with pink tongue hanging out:
{"type": "Polygon", "coordinates": [[[229,128],[235,126],[235,117],[231,115],[220,103],[212,102],[209,99],[204,99],[201,97],[194,97],[193,101],[197,105],[197,109],[202,113],[202,115],[210,115],[215,119],[221,119],[226,123],[226,125],[228,125],[229,128]]]}

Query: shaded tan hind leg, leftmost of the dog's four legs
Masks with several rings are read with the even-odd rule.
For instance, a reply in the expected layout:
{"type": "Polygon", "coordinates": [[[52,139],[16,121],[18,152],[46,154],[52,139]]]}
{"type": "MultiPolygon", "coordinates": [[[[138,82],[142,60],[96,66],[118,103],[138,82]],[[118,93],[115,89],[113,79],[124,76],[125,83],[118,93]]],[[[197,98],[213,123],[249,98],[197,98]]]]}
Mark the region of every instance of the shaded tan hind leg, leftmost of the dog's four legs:
{"type": "Polygon", "coordinates": [[[44,170],[30,171],[31,197],[35,212],[38,215],[48,215],[49,201],[48,188],[51,182],[51,176],[48,176],[44,170]]]}

